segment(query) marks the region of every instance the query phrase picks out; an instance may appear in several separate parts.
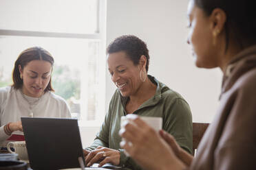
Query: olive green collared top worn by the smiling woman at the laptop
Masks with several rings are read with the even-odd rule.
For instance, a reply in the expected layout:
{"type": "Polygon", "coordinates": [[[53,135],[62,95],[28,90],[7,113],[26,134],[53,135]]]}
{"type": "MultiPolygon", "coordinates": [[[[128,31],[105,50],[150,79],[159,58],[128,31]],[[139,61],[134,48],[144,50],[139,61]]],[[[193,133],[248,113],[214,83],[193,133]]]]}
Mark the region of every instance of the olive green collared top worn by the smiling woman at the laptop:
{"type": "MultiPolygon", "coordinates": [[[[143,103],[134,114],[146,117],[162,117],[162,129],[174,136],[177,143],[192,153],[192,116],[189,104],[182,96],[156,78],[148,75],[149,80],[157,85],[156,94],[143,103]]],[[[125,106],[128,97],[122,97],[117,89],[114,93],[109,110],[105,116],[105,121],[100,127],[100,132],[96,135],[94,143],[88,150],[93,150],[98,146],[118,149],[120,151],[120,166],[130,169],[141,169],[130,157],[120,149],[122,138],[118,135],[120,130],[120,119],[127,115],[125,106]]]]}

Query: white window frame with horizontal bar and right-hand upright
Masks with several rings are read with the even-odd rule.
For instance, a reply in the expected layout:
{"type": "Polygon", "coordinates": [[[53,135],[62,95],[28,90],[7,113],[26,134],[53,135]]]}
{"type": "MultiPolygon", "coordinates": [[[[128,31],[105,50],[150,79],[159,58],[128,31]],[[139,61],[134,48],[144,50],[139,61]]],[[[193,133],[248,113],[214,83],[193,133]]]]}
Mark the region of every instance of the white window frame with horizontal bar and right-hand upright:
{"type": "MultiPolygon", "coordinates": [[[[0,36],[32,36],[32,37],[45,37],[45,38],[82,38],[82,39],[91,39],[91,40],[100,40],[100,58],[105,58],[105,48],[106,48],[106,16],[107,16],[107,0],[98,0],[98,22],[96,33],[94,34],[73,34],[73,33],[59,33],[59,32],[34,32],[34,31],[21,31],[21,30],[12,30],[12,29],[0,29],[0,36]]],[[[79,121],[79,126],[82,127],[98,127],[104,120],[105,117],[105,73],[106,73],[106,62],[105,60],[100,60],[99,65],[100,73],[100,93],[98,113],[96,113],[95,121],[86,121],[83,119],[85,113],[81,112],[81,121],[79,121]]]]}

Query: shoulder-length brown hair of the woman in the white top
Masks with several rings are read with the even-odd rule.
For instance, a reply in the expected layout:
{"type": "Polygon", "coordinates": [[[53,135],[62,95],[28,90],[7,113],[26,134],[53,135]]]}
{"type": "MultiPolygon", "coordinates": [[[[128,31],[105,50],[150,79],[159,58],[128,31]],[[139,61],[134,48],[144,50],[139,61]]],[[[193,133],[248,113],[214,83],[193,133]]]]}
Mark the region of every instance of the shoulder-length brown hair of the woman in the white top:
{"type": "MultiPolygon", "coordinates": [[[[14,88],[18,89],[18,88],[21,88],[23,85],[23,80],[21,79],[21,75],[19,73],[19,65],[21,66],[21,69],[23,69],[24,66],[28,64],[28,62],[31,62],[32,60],[44,60],[44,61],[50,62],[52,66],[54,64],[54,58],[45,49],[41,47],[31,47],[29,49],[25,49],[24,51],[21,52],[21,54],[17,58],[14,64],[14,69],[12,71],[12,81],[13,81],[12,86],[14,88]]],[[[52,76],[50,77],[49,84],[45,88],[45,92],[49,90],[54,91],[54,89],[52,88],[52,76]]]]}

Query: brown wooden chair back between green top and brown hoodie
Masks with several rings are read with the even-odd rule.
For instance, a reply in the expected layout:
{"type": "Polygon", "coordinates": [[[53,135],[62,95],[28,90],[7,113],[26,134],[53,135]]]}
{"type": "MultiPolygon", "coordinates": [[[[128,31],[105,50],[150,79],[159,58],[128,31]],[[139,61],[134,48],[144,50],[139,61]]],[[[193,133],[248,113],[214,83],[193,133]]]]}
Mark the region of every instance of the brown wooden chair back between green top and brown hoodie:
{"type": "Polygon", "coordinates": [[[193,156],[208,126],[209,123],[193,123],[193,156]]]}

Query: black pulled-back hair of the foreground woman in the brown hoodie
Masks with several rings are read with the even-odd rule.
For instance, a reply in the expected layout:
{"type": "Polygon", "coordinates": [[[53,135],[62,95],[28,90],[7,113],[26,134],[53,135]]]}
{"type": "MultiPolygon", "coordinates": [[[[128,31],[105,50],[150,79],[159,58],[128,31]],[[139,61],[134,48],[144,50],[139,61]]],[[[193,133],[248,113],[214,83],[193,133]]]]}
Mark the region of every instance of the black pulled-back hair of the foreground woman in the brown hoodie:
{"type": "Polygon", "coordinates": [[[256,43],[256,12],[253,0],[193,0],[195,5],[210,16],[215,8],[226,13],[226,49],[232,36],[244,49],[256,43]]]}

